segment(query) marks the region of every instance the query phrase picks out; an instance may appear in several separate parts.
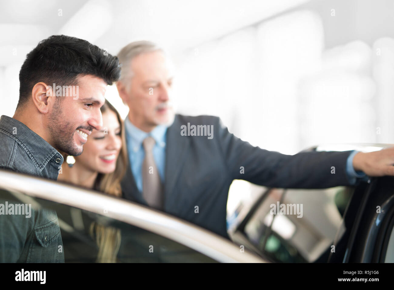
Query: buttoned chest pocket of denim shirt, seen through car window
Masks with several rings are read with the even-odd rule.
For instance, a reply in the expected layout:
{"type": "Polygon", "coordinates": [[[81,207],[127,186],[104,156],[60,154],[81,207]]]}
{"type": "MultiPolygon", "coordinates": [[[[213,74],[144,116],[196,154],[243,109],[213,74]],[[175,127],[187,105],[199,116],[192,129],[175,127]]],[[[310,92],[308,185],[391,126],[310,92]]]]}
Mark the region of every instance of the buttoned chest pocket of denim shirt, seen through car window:
{"type": "MultiPolygon", "coordinates": [[[[46,225],[36,227],[32,243],[30,244],[27,262],[30,263],[58,263],[59,245],[63,248],[60,228],[56,221],[51,221],[46,225]]],[[[63,249],[62,249],[63,250],[63,249]]],[[[63,256],[62,256],[63,257],[63,256]]]]}

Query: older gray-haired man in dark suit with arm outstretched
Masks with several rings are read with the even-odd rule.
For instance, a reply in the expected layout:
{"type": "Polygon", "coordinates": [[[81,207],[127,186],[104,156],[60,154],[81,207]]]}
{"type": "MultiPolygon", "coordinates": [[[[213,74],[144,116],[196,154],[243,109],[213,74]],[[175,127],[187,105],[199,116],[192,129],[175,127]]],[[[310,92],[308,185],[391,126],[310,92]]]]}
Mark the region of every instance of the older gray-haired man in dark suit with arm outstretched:
{"type": "Polygon", "coordinates": [[[173,71],[164,50],[137,41],[118,58],[117,88],[130,108],[125,120],[130,166],[122,181],[126,199],[228,238],[227,196],[234,179],[278,188],[330,188],[353,185],[367,175],[394,175],[394,148],[285,155],[242,141],[218,117],[174,115],[173,71]]]}

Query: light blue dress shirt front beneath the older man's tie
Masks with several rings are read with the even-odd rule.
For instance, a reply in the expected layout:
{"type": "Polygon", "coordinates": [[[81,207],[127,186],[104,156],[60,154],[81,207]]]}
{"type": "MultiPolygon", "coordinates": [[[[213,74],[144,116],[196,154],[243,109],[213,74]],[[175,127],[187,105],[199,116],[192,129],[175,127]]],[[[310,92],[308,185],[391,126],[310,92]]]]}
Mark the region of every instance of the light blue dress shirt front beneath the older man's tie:
{"type": "Polygon", "coordinates": [[[142,141],[148,136],[156,141],[152,151],[153,159],[156,163],[159,176],[164,183],[164,171],[165,171],[165,138],[167,135],[167,126],[159,125],[156,126],[150,133],[144,132],[134,126],[128,116],[125,119],[126,139],[127,139],[127,151],[129,161],[131,164],[131,171],[134,175],[137,188],[142,192],[142,163],[145,158],[145,150],[142,145],[142,141]]]}

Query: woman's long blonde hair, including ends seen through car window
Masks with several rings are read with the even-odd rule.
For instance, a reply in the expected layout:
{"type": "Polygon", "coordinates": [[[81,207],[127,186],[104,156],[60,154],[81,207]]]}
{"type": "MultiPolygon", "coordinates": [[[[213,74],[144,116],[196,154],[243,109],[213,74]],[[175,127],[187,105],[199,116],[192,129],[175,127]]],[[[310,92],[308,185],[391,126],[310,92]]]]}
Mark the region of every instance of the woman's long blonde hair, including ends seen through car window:
{"type": "MultiPolygon", "coordinates": [[[[128,166],[125,126],[118,111],[112,106],[108,100],[105,100],[104,105],[100,108],[101,113],[108,110],[114,112],[121,126],[122,147],[119,156],[116,160],[115,171],[108,174],[99,173],[95,180],[93,189],[98,190],[117,197],[122,196],[121,180],[126,173],[128,166]]],[[[67,155],[64,156],[67,158],[67,155]]],[[[116,262],[117,253],[121,244],[121,232],[119,229],[110,226],[104,226],[97,222],[91,223],[89,227],[89,234],[95,239],[99,253],[97,255],[97,262],[113,263],[116,262]]]]}

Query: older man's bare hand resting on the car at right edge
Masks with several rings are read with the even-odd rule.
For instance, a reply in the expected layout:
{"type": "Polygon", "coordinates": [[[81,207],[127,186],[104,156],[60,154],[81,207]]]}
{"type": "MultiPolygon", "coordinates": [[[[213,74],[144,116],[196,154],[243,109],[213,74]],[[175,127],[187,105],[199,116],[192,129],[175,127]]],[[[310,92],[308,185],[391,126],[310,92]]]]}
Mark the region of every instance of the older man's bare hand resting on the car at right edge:
{"type": "Polygon", "coordinates": [[[374,152],[359,152],[353,158],[353,167],[368,176],[394,176],[394,147],[374,152]]]}

